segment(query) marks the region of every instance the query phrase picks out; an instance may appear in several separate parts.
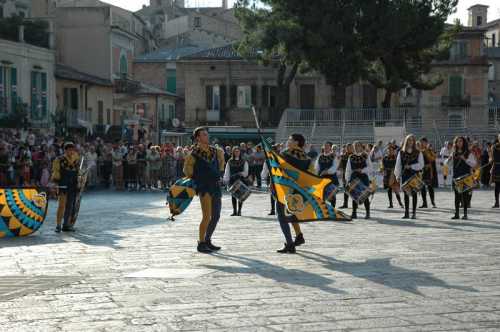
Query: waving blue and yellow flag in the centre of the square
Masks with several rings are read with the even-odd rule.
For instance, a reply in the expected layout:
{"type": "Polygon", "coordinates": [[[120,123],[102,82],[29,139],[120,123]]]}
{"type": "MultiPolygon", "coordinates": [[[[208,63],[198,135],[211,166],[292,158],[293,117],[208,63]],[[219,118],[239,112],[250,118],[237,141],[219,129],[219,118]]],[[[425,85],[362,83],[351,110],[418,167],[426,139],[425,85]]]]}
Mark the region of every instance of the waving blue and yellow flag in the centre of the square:
{"type": "Polygon", "coordinates": [[[349,221],[351,218],[336,210],[327,197],[335,189],[332,180],[302,171],[271,150],[262,140],[273,194],[286,207],[289,222],[349,221]]]}

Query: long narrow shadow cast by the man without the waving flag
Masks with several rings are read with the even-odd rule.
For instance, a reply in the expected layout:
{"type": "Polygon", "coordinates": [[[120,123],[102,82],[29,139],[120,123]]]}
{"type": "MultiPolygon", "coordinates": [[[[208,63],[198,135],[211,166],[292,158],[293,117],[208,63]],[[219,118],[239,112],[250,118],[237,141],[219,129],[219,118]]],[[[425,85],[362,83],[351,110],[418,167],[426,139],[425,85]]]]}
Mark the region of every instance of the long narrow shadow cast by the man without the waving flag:
{"type": "Polygon", "coordinates": [[[219,266],[219,265],[202,265],[202,266],[208,269],[224,273],[256,274],[258,276],[261,276],[262,278],[272,279],[274,281],[281,283],[317,288],[319,290],[332,294],[345,294],[345,292],[339,289],[330,287],[330,284],[334,282],[332,279],[323,277],[315,273],[298,269],[289,269],[273,265],[262,260],[247,258],[242,256],[219,254],[219,253],[213,254],[213,256],[242,264],[244,265],[244,267],[219,266]]]}

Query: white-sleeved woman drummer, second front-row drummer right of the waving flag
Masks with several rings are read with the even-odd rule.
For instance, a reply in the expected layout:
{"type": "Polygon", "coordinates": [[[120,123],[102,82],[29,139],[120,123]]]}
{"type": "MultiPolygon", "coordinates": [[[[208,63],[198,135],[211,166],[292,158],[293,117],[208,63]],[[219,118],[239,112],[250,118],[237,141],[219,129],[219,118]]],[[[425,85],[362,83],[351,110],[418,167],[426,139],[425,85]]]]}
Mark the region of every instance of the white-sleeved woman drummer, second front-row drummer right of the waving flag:
{"type": "MultiPolygon", "coordinates": [[[[413,176],[417,175],[424,168],[424,156],[417,149],[417,140],[414,135],[405,138],[403,147],[398,153],[394,175],[399,183],[403,184],[413,176]]],[[[410,218],[410,196],[405,192],[405,215],[403,219],[410,218]]],[[[412,196],[412,219],[417,218],[417,192],[413,191],[412,196]]]]}

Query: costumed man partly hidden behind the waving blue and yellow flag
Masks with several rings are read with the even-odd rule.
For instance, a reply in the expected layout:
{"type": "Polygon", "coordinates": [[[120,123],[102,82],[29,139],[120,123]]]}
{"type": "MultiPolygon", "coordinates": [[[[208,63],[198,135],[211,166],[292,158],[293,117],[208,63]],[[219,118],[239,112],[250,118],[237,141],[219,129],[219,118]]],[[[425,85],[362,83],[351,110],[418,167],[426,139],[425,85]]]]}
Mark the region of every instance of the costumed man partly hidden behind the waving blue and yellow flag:
{"type": "MultiPolygon", "coordinates": [[[[292,134],[288,138],[287,149],[281,153],[283,159],[285,159],[289,164],[298,168],[301,171],[309,171],[314,173],[314,165],[312,160],[306,155],[304,151],[304,146],[306,140],[301,134],[292,134]]],[[[292,232],[290,231],[290,225],[286,220],[285,210],[286,207],[280,202],[276,202],[276,209],[278,213],[278,221],[280,223],[281,231],[285,237],[285,246],[278,250],[280,254],[294,254],[295,247],[298,247],[305,243],[304,235],[298,223],[292,223],[293,229],[295,231],[295,240],[292,239],[292,232]]]]}

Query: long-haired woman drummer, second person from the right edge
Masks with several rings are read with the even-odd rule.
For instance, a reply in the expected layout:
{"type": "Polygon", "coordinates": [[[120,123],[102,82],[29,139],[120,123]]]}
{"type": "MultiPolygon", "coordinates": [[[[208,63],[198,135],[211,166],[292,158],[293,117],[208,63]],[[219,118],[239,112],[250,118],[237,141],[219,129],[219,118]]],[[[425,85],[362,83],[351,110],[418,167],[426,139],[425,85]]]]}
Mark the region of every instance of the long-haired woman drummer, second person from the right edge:
{"type": "MultiPolygon", "coordinates": [[[[453,141],[453,154],[448,161],[452,163],[453,180],[459,179],[472,173],[472,169],[476,167],[477,160],[474,154],[469,151],[469,143],[463,136],[458,136],[453,141]]],[[[464,208],[464,216],[462,219],[467,219],[467,208],[469,207],[469,195],[467,192],[459,193],[453,181],[453,190],[455,191],[455,215],[451,219],[460,218],[460,205],[464,208]]]]}

